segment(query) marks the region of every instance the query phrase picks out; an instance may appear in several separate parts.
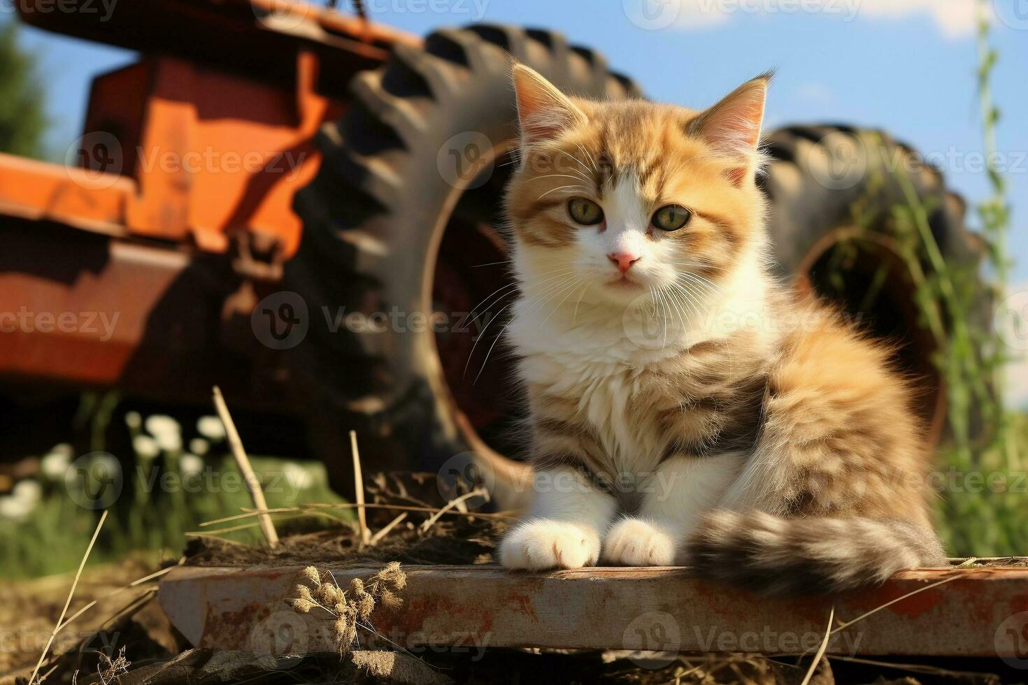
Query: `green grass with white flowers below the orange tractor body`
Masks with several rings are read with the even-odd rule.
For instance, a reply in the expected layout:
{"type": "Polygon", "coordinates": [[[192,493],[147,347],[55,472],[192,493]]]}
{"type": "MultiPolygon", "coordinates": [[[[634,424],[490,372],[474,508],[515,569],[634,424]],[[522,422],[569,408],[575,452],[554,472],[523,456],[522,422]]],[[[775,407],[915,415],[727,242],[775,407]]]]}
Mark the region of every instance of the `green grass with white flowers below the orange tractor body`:
{"type": "MultiPolygon", "coordinates": [[[[166,426],[174,424],[163,419],[166,426]]],[[[106,453],[74,458],[77,455],[70,454],[68,446],[58,446],[43,458],[39,478],[22,481],[14,494],[0,498],[0,577],[38,577],[74,570],[105,507],[110,515],[90,563],[115,562],[140,549],[178,559],[186,533],[205,530],[199,528],[201,522],[253,506],[223,441],[194,439],[192,447],[207,446],[208,451],[193,454],[181,447],[180,428],[178,437],[161,439],[164,449],[156,447],[158,441],[146,431],[143,421],[131,416],[130,429],[141,448],[132,458],[113,460],[106,453]],[[118,480],[110,478],[115,462],[121,472],[120,489],[118,480]]],[[[269,507],[343,501],[329,489],[320,463],[272,457],[251,457],[251,462],[269,507]]],[[[352,519],[348,512],[319,516],[333,522],[352,519]]],[[[324,520],[309,517],[289,519],[286,516],[277,521],[280,530],[324,526],[324,520]]],[[[253,519],[212,528],[228,527],[244,527],[224,534],[230,539],[250,543],[262,539],[253,519]]]]}

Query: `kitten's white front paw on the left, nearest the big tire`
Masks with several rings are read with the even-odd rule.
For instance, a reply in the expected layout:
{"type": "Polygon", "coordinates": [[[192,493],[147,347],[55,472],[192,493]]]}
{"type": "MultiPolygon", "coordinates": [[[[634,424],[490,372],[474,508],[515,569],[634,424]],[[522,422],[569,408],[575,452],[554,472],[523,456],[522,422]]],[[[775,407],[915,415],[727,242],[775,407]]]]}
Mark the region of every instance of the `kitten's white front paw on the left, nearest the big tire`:
{"type": "Polygon", "coordinates": [[[565,521],[519,524],[500,543],[500,563],[510,569],[577,569],[595,565],[598,557],[599,534],[565,521]]]}

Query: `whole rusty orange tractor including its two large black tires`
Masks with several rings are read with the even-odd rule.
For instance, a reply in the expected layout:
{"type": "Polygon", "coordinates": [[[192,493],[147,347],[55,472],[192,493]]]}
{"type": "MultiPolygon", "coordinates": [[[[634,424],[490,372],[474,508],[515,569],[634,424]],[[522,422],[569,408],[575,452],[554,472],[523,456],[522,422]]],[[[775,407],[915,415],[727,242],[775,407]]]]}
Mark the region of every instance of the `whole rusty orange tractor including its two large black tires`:
{"type": "MultiPolygon", "coordinates": [[[[83,390],[203,412],[218,384],[249,443],[307,446],[343,495],[353,429],[366,470],[474,468],[497,506],[516,505],[520,403],[493,350],[516,290],[501,229],[511,60],[581,97],[642,98],[631,78],[546,29],[423,39],[359,2],[15,4],[141,58],[94,81],[65,164],[0,155],[3,453],[52,437],[49,409],[83,390]]],[[[901,343],[937,440],[935,343],[886,227],[909,182],[945,256],[974,264],[963,202],[938,170],[888,163],[911,151],[882,131],[797,125],[765,142],[780,276],[901,343]]]]}

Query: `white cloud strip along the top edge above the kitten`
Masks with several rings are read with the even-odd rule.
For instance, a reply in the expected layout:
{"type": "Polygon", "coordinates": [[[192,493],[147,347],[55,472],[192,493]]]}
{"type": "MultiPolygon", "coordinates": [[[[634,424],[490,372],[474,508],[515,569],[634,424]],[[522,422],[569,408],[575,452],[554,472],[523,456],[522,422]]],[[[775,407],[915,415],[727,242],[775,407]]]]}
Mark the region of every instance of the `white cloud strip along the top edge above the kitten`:
{"type": "Polygon", "coordinates": [[[632,22],[649,29],[705,29],[737,15],[817,13],[844,22],[930,18],[950,38],[975,31],[976,0],[624,0],[632,22]]]}

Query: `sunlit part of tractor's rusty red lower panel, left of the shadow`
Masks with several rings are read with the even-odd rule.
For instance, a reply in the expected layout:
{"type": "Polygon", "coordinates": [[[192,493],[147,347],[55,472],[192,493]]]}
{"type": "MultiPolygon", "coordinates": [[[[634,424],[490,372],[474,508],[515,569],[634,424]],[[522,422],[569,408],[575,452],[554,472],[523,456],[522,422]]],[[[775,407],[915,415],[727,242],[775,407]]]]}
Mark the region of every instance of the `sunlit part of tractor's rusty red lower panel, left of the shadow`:
{"type": "Polygon", "coordinates": [[[0,377],[114,384],[187,267],[172,250],[0,227],[0,377]],[[126,288],[131,283],[131,288],[126,288]]]}

